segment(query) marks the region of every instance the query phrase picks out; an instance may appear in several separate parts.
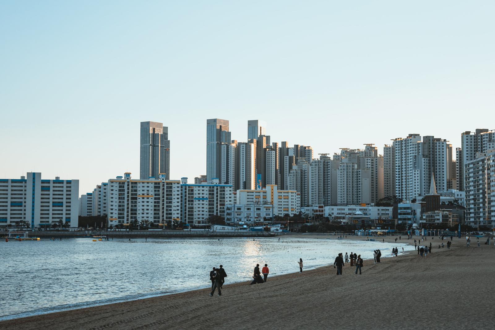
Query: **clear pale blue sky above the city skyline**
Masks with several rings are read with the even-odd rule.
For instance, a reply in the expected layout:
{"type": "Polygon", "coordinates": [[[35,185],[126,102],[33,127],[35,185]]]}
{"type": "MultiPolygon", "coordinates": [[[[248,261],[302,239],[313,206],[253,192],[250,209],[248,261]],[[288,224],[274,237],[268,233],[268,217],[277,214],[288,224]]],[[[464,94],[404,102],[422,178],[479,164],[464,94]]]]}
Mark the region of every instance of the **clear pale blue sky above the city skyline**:
{"type": "Polygon", "coordinates": [[[272,141],[460,144],[495,129],[495,1],[0,1],[0,177],[139,177],[163,122],[171,177],[205,174],[206,119],[272,141]]]}

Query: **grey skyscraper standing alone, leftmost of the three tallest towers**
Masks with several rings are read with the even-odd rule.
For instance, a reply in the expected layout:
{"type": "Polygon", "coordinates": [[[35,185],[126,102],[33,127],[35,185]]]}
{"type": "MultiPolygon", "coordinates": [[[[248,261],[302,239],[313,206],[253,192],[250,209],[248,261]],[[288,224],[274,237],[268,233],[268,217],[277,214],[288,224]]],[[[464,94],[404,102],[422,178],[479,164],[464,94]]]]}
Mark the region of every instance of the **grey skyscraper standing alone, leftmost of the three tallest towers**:
{"type": "Polygon", "coordinates": [[[140,179],[158,178],[165,173],[170,178],[170,140],[163,123],[141,122],[140,179]]]}

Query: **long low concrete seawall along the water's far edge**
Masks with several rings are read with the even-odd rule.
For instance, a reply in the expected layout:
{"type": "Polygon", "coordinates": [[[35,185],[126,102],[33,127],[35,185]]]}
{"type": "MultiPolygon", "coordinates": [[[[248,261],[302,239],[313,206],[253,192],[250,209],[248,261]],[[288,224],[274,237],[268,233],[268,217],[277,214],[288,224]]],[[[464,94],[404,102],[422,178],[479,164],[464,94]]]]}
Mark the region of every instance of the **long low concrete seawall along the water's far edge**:
{"type": "MultiPolygon", "coordinates": [[[[0,236],[8,236],[8,232],[0,232],[0,236]]],[[[209,232],[209,231],[34,231],[28,232],[29,237],[40,238],[76,238],[107,236],[109,238],[186,238],[186,237],[270,237],[269,232],[209,232]]]]}

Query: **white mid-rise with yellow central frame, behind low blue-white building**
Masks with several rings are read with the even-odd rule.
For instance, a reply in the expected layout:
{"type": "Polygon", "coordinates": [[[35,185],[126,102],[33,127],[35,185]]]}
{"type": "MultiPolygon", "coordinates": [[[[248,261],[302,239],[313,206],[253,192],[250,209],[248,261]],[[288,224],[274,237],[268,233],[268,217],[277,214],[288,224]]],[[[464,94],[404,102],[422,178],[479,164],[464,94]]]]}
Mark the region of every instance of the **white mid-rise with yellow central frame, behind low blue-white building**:
{"type": "Polygon", "coordinates": [[[272,205],[273,215],[293,216],[301,209],[300,194],[295,190],[278,190],[277,185],[267,185],[261,190],[238,190],[236,204],[272,205]]]}

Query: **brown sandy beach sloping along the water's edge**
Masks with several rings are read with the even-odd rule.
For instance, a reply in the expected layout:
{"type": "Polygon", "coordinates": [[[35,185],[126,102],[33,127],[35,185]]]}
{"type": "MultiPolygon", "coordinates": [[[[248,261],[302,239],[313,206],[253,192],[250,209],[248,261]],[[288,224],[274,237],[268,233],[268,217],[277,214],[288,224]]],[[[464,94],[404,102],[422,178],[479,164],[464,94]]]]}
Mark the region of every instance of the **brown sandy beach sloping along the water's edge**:
{"type": "Polygon", "coordinates": [[[442,241],[430,237],[428,257],[365,260],[362,275],[346,264],[343,276],[327,266],[253,286],[227,278],[213,297],[206,281],[201,290],[8,320],[0,329],[494,329],[495,248],[485,241],[465,248],[464,237],[454,238],[439,249],[442,241]]]}

